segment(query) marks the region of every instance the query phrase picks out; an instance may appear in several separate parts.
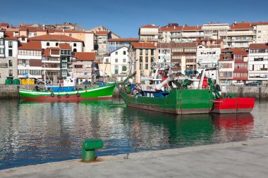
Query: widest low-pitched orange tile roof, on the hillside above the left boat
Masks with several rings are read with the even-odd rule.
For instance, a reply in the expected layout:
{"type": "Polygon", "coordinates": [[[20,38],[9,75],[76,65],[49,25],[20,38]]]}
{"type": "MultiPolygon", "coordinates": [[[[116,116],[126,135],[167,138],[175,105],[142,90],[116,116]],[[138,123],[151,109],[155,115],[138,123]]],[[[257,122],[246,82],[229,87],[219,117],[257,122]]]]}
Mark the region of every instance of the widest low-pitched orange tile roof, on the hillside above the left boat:
{"type": "Polygon", "coordinates": [[[29,40],[35,41],[56,41],[56,42],[83,42],[80,39],[68,37],[63,34],[44,34],[37,37],[30,37],[29,40]]]}

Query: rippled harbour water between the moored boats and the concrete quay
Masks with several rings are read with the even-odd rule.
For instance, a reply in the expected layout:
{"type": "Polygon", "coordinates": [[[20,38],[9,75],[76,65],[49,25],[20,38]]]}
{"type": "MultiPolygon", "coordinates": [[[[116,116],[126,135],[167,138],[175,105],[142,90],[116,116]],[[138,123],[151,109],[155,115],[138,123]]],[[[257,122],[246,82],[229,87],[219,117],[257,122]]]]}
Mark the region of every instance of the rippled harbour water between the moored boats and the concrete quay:
{"type": "Polygon", "coordinates": [[[251,114],[183,116],[118,103],[0,101],[0,170],[81,158],[86,138],[104,141],[97,155],[116,155],[268,136],[268,101],[251,114]]]}

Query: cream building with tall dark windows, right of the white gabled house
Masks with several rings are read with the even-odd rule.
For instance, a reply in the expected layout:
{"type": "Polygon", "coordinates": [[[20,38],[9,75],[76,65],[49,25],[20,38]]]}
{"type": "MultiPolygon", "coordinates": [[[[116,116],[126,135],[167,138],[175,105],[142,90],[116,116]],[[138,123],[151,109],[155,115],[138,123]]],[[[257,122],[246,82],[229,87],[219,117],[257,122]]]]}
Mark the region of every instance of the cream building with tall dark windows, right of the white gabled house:
{"type": "Polygon", "coordinates": [[[153,63],[157,62],[157,46],[152,43],[133,42],[129,49],[129,63],[132,72],[136,71],[135,82],[140,83],[140,77],[151,76],[153,63]]]}

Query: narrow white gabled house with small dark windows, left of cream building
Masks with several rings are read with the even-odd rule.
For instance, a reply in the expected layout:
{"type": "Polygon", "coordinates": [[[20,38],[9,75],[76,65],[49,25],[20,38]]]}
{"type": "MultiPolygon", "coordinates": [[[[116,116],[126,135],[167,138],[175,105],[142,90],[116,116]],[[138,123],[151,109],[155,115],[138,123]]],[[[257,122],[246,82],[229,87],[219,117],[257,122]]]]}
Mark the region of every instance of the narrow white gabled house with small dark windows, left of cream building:
{"type": "Polygon", "coordinates": [[[111,62],[111,75],[128,74],[128,48],[122,47],[109,54],[111,62]]]}

